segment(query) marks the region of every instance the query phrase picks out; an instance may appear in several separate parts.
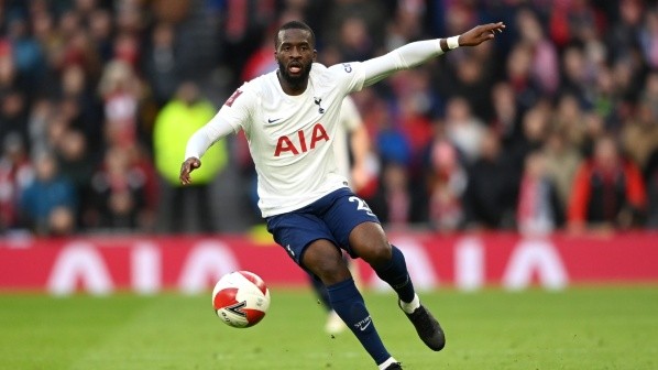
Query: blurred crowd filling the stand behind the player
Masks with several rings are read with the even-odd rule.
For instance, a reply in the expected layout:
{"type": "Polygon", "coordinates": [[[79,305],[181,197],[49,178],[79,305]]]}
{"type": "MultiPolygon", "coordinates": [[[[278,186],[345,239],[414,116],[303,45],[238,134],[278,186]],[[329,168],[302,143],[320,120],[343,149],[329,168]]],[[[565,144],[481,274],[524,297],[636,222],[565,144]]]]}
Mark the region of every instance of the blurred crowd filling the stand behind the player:
{"type": "Polygon", "coordinates": [[[352,96],[373,154],[355,191],[387,226],[658,228],[656,1],[0,0],[0,233],[259,222],[241,137],[194,186],[177,174],[187,138],[276,68],[293,19],[327,65],[507,25],[352,96]],[[227,172],[238,203],[213,195],[227,172]]]}

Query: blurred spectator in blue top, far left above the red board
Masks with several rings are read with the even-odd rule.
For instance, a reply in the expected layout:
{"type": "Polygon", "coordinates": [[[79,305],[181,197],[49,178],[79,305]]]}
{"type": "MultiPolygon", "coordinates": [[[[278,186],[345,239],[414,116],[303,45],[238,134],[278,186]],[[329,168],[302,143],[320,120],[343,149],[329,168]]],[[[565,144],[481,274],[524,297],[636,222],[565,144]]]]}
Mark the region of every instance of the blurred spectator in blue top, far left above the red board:
{"type": "Polygon", "coordinates": [[[77,207],[74,185],[59,174],[52,153],[36,154],[34,171],[34,179],[20,196],[24,225],[40,236],[72,233],[77,207]]]}

